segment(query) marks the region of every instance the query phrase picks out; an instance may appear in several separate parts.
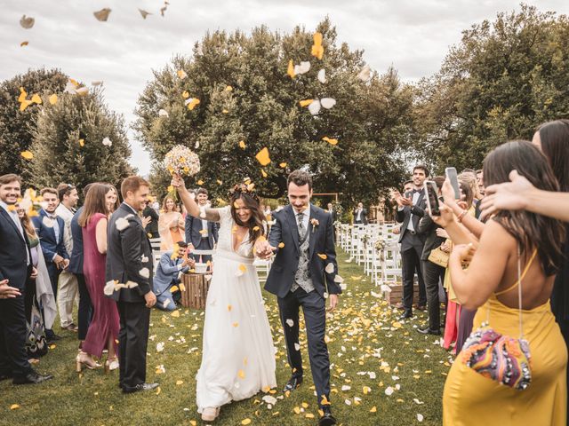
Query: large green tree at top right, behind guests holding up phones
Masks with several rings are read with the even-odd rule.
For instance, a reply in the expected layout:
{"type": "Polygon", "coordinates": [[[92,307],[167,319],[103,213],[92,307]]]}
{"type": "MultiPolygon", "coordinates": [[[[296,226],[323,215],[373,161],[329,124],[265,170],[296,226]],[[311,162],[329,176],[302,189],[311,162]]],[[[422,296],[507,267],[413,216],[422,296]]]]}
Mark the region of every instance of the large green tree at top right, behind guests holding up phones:
{"type": "Polygon", "coordinates": [[[482,165],[493,147],[569,116],[569,20],[522,5],[463,32],[419,84],[416,146],[439,171],[482,165]]]}

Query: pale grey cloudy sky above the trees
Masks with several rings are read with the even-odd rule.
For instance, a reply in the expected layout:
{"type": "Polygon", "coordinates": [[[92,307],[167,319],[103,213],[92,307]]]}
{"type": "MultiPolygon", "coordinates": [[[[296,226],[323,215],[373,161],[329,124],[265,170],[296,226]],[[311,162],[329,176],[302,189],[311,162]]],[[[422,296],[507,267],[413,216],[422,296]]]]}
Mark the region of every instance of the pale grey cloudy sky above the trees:
{"type": "MultiPolygon", "coordinates": [[[[527,1],[541,11],[569,14],[566,0],[527,1]]],[[[28,68],[59,67],[84,83],[102,80],[109,106],[132,122],[132,111],[151,70],[175,53],[189,54],[206,31],[268,25],[283,32],[308,30],[330,17],[338,39],[365,50],[365,60],[383,72],[390,65],[405,81],[436,72],[461,31],[493,20],[497,12],[519,10],[518,0],[0,0],[0,80],[28,68]],[[92,12],[112,10],[107,22],[92,12]],[[142,20],[138,8],[152,12],[142,20]],[[20,17],[36,19],[31,29],[20,17]],[[20,47],[24,40],[28,46],[20,47]]],[[[130,132],[132,164],[146,174],[148,153],[130,132]]]]}

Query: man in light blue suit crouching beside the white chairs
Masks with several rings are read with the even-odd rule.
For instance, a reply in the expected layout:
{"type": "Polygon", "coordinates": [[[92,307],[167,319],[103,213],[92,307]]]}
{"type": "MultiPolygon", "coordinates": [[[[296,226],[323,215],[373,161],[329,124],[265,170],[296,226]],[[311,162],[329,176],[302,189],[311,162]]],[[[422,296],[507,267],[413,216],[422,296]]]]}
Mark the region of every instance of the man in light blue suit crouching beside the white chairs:
{"type": "Polygon", "coordinates": [[[156,295],[156,308],[163,311],[173,311],[180,301],[180,291],[172,296],[172,286],[180,284],[180,272],[186,273],[193,268],[196,262],[188,257],[188,244],[179,241],[176,256],[172,258],[172,251],[165,252],[160,257],[160,263],[154,274],[154,294],[156,295]]]}

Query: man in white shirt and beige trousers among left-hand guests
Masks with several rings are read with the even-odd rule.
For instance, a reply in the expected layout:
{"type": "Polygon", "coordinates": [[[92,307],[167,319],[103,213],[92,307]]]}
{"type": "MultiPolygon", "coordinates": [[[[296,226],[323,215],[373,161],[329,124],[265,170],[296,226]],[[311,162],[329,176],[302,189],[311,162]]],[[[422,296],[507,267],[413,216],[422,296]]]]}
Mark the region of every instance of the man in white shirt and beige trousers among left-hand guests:
{"type": "MultiPolygon", "coordinates": [[[[63,219],[63,242],[65,249],[70,254],[73,251],[73,238],[71,236],[71,219],[76,212],[79,195],[76,187],[70,184],[60,184],[57,187],[60,203],[55,209],[57,216],[63,219]]],[[[73,322],[73,304],[78,296],[77,279],[73,272],[61,271],[57,304],[60,311],[61,328],[69,331],[77,331],[73,322]]]]}

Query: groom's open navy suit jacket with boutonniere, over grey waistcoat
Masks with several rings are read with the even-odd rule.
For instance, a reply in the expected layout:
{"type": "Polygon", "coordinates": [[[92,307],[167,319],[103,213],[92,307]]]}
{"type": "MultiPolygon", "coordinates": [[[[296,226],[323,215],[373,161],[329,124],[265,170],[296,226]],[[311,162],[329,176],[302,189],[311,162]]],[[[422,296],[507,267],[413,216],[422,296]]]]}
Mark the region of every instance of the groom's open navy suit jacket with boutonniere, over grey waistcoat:
{"type": "MultiPolygon", "coordinates": [[[[268,241],[276,247],[275,261],[268,272],[265,289],[279,297],[284,297],[291,291],[294,275],[299,267],[299,231],[293,206],[273,213],[275,224],[272,225],[268,241]],[[279,248],[279,244],[284,247],[279,248]]],[[[309,221],[309,275],[312,284],[320,296],[324,293],[341,294],[340,284],[334,281],[338,272],[336,263],[336,248],[334,246],[332,216],[325,210],[310,204],[309,221]],[[313,226],[316,219],[318,225],[313,226]],[[323,259],[318,255],[325,255],[323,259]],[[325,272],[327,264],[334,265],[334,272],[325,272]]]]}

